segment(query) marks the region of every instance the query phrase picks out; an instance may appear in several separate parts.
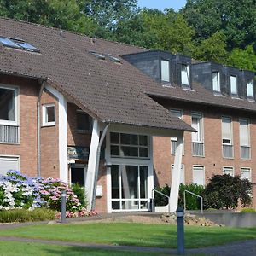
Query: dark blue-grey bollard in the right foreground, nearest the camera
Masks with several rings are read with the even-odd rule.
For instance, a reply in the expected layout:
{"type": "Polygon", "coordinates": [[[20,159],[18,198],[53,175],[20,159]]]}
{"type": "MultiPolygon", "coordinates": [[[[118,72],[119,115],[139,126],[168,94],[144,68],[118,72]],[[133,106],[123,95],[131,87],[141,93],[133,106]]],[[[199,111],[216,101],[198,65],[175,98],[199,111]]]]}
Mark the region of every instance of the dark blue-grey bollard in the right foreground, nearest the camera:
{"type": "Polygon", "coordinates": [[[177,253],[184,252],[184,211],[183,207],[177,207],[177,253]]]}

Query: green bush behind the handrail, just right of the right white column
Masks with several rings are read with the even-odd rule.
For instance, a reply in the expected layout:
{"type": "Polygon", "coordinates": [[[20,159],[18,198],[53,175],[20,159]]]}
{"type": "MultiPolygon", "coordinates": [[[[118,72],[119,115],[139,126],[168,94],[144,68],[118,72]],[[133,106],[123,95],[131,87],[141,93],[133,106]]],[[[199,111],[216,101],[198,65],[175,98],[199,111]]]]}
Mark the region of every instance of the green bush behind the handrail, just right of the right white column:
{"type": "MultiPolygon", "coordinates": [[[[179,199],[178,204],[179,206],[184,206],[184,190],[188,190],[195,195],[201,195],[203,194],[204,187],[197,184],[187,184],[183,185],[180,184],[179,186],[179,199]]],[[[186,193],[186,209],[187,210],[200,210],[201,209],[201,199],[195,195],[191,195],[189,193],[186,193]]]]}

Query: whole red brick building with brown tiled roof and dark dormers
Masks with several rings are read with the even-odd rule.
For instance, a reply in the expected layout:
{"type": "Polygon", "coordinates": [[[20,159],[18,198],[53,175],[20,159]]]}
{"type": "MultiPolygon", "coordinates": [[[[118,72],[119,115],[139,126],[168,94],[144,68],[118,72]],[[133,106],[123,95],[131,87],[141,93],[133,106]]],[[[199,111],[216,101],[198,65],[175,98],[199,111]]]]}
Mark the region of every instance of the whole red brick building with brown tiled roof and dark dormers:
{"type": "Polygon", "coordinates": [[[0,43],[2,175],[78,182],[99,212],[171,182],[175,211],[180,181],[230,167],[255,182],[253,73],[9,19],[0,43]]]}

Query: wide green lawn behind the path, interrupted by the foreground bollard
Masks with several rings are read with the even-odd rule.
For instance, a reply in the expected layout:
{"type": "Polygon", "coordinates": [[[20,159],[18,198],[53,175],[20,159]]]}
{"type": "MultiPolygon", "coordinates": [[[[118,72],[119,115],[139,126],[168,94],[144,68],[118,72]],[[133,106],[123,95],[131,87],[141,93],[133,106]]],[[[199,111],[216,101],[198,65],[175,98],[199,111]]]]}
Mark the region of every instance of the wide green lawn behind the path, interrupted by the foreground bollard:
{"type": "MultiPolygon", "coordinates": [[[[1,230],[1,236],[175,248],[177,247],[176,229],[175,225],[166,224],[44,224],[1,230]]],[[[247,239],[256,239],[256,228],[185,227],[186,248],[220,245],[247,239]]]]}

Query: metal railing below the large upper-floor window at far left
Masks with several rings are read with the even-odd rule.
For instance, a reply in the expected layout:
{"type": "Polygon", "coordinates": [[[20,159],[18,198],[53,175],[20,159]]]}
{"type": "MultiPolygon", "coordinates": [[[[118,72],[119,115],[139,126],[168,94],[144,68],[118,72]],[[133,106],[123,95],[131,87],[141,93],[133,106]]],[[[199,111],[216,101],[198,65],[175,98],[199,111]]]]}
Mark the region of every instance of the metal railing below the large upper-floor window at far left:
{"type": "Polygon", "coordinates": [[[0,125],[0,143],[19,143],[19,126],[0,125]]]}

